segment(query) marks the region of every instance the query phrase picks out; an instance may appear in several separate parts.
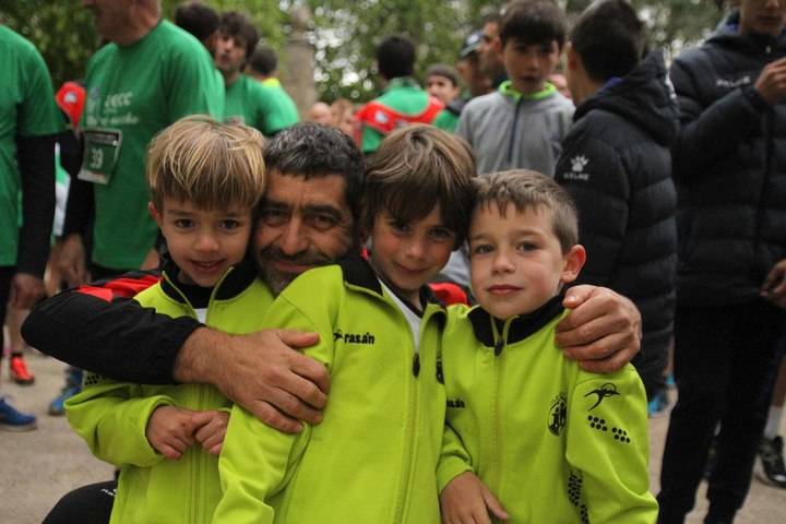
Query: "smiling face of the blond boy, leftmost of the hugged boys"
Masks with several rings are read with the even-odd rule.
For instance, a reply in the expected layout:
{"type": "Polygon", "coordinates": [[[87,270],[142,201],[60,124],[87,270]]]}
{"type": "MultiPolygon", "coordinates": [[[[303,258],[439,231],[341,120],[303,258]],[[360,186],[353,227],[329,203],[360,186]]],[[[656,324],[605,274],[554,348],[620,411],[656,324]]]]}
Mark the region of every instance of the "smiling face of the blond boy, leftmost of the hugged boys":
{"type": "Polygon", "coordinates": [[[251,210],[205,211],[190,202],[164,199],[164,210],[150,204],[151,214],[167,240],[178,279],[213,287],[230,265],[246,254],[251,236],[251,210]]]}

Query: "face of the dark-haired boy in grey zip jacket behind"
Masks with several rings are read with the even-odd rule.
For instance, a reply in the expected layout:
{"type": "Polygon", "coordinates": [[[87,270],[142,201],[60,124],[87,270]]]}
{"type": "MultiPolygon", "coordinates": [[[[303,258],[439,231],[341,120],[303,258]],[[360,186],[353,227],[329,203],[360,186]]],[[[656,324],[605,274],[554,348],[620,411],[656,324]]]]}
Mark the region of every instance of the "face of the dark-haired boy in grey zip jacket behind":
{"type": "Polygon", "coordinates": [[[560,48],[557,41],[549,44],[524,44],[517,38],[509,39],[502,48],[508,78],[517,92],[531,95],[543,90],[544,82],[559,63],[560,48]]]}

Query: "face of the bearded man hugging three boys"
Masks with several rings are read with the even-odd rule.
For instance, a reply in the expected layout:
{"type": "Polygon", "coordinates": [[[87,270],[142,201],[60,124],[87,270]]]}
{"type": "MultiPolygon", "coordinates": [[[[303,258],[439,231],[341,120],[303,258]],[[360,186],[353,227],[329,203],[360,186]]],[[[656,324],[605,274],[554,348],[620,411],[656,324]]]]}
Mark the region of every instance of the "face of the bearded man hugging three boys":
{"type": "Polygon", "coordinates": [[[355,245],[341,175],[306,179],[271,171],[254,234],[260,273],[279,294],[300,273],[337,261],[355,245]]]}

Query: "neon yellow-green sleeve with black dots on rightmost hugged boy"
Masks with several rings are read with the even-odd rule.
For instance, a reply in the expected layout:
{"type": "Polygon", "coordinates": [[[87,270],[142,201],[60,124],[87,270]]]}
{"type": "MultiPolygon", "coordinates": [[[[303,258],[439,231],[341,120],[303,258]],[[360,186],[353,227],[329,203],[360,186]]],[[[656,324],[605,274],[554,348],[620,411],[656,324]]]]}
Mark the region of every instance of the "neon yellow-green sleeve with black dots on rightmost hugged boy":
{"type": "Polygon", "coordinates": [[[581,484],[590,522],[655,522],[641,379],[630,365],[611,376],[579,377],[569,404],[565,458],[581,484]]]}

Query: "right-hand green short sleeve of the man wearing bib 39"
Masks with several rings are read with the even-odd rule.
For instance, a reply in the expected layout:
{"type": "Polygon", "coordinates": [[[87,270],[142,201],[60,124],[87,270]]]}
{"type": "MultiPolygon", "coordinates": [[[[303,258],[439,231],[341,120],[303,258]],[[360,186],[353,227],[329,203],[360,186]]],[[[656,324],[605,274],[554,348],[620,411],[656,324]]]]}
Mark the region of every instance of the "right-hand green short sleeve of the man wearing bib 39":
{"type": "Polygon", "coordinates": [[[207,51],[179,48],[165,68],[165,94],[168,96],[169,121],[188,115],[211,115],[221,119],[224,112],[223,85],[207,51]]]}

